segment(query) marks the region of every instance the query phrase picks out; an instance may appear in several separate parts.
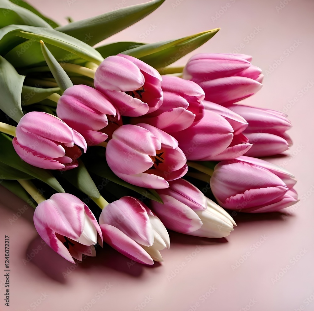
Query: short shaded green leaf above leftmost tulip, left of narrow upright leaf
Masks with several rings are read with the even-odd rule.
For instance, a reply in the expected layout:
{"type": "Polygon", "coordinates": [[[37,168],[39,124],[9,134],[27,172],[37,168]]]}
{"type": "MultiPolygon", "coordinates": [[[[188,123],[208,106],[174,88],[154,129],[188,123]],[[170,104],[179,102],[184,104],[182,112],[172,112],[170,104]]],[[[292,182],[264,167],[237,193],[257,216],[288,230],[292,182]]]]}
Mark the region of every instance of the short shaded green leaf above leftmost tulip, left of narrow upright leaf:
{"type": "Polygon", "coordinates": [[[22,87],[22,106],[28,106],[34,103],[39,103],[53,93],[59,93],[60,87],[51,88],[40,88],[40,87],[29,87],[23,85],[22,87]]]}

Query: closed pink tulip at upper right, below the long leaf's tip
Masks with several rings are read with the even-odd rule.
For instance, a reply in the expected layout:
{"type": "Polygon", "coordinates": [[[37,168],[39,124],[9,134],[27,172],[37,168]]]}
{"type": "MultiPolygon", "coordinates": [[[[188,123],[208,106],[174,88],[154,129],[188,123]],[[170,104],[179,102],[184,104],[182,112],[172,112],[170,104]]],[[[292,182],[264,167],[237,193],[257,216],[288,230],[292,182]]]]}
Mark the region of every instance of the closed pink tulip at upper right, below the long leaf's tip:
{"type": "Polygon", "coordinates": [[[205,99],[230,105],[247,98],[262,87],[261,69],[252,66],[249,55],[203,53],[192,56],[183,70],[183,78],[196,82],[205,99]]]}

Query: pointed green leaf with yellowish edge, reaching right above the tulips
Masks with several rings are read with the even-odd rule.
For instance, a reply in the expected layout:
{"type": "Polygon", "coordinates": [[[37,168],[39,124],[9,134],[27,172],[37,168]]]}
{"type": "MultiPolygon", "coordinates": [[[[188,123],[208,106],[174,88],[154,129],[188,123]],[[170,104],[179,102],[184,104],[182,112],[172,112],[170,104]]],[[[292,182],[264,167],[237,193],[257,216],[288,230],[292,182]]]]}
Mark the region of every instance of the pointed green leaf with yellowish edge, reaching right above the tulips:
{"type": "Polygon", "coordinates": [[[139,58],[141,61],[158,69],[171,65],[184,55],[192,52],[212,38],[218,31],[219,28],[173,41],[146,44],[124,51],[122,54],[139,58]]]}

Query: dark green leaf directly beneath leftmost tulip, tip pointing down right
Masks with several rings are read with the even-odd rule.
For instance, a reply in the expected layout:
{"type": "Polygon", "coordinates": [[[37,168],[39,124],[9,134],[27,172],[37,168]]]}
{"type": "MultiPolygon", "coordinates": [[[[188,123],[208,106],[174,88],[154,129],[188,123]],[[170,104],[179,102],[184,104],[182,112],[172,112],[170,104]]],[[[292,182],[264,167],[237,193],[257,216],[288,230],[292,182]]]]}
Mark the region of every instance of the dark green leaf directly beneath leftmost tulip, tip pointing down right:
{"type": "Polygon", "coordinates": [[[47,185],[55,189],[57,192],[65,192],[61,187],[59,182],[55,177],[52,176],[50,171],[44,170],[39,167],[32,166],[25,161],[23,161],[19,155],[15,152],[14,147],[12,145],[12,139],[0,133],[0,161],[16,168],[19,171],[22,171],[30,176],[33,176],[41,181],[45,182],[47,185]]]}

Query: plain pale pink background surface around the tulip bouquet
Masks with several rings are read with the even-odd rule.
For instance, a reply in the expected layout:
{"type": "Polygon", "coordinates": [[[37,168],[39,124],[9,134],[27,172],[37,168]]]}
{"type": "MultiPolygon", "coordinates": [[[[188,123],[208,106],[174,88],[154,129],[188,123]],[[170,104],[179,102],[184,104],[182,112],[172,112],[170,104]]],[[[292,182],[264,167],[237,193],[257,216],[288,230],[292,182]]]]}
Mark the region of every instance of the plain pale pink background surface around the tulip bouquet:
{"type": "MultiPolygon", "coordinates": [[[[67,16],[79,20],[141,2],[118,1],[30,3],[65,24],[67,16]]],[[[289,115],[294,145],[286,156],[269,161],[299,179],[299,203],[282,213],[238,215],[238,227],[226,239],[171,233],[171,248],[162,251],[165,261],[153,267],[133,264],[109,248],[74,266],[41,243],[32,208],[24,208],[10,224],[25,203],[0,187],[3,257],[4,235],[10,236],[10,309],[314,310],[313,10],[311,0],[166,0],[149,17],[107,40],[155,42],[221,27],[197,51],[238,50],[253,55],[253,64],[263,69],[263,89],[245,103],[289,115]],[[35,256],[27,261],[28,255],[35,256]]],[[[0,276],[0,310],[8,309],[3,280],[0,276]]]]}

